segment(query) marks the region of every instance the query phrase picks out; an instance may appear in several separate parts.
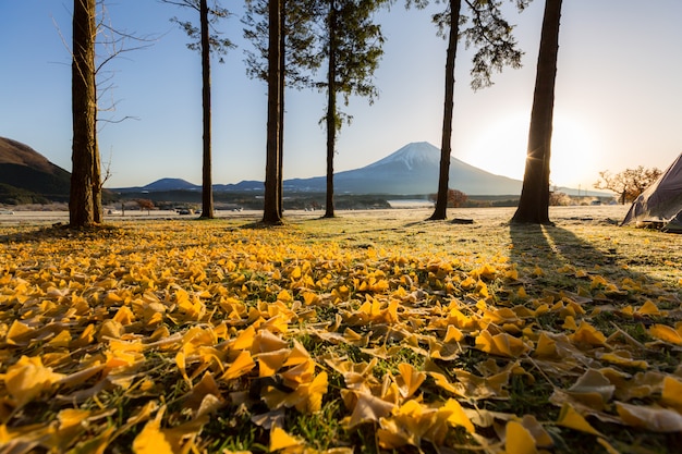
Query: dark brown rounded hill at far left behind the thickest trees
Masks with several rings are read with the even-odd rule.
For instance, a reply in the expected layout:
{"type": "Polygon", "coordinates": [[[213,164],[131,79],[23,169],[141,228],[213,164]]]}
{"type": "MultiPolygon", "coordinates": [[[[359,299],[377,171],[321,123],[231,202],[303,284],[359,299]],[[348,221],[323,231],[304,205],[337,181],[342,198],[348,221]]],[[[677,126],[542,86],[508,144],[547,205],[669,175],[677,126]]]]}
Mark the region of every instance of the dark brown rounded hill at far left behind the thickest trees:
{"type": "Polygon", "coordinates": [[[71,173],[29,146],[0,137],[0,203],[68,201],[71,173]]]}

